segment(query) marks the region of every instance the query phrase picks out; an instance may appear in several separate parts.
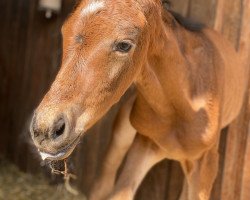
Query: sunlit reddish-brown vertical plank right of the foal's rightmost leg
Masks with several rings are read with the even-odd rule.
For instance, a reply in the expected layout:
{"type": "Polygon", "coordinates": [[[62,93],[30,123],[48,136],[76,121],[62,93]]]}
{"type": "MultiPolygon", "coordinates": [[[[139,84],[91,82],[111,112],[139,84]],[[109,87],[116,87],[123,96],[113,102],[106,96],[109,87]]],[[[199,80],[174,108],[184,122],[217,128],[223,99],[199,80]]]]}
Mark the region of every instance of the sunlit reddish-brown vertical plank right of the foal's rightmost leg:
{"type": "Polygon", "coordinates": [[[225,154],[225,168],[222,182],[221,199],[235,200],[241,196],[242,172],[248,133],[248,99],[245,101],[240,116],[229,127],[225,154]]]}

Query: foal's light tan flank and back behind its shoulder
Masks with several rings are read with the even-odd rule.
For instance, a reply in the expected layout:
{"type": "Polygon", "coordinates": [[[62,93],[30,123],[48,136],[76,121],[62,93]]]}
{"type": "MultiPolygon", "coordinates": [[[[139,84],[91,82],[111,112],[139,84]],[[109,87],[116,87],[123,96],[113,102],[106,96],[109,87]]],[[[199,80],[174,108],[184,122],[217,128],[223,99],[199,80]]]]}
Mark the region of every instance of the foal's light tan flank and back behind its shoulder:
{"type": "Polygon", "coordinates": [[[248,68],[242,64],[239,53],[222,36],[213,30],[204,33],[218,50],[218,60],[223,70],[223,96],[221,110],[221,126],[227,126],[240,112],[247,86],[248,68]]]}

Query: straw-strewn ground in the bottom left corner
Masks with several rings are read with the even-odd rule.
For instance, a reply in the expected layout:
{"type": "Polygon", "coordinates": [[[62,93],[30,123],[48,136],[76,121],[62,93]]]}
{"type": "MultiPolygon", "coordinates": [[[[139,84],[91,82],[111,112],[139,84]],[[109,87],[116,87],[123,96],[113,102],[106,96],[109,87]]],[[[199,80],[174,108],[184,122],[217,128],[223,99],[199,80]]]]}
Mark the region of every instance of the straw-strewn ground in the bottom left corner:
{"type": "Polygon", "coordinates": [[[42,175],[29,175],[0,160],[0,200],[86,200],[70,194],[64,184],[51,185],[42,175]]]}

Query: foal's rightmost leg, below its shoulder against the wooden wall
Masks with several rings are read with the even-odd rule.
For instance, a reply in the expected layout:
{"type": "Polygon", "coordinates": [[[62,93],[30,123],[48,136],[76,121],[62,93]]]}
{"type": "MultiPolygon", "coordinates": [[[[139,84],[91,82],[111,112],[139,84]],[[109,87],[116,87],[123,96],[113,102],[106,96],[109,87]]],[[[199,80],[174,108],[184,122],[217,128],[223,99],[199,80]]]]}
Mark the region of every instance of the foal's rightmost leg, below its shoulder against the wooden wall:
{"type": "Polygon", "coordinates": [[[218,171],[217,145],[197,160],[181,162],[185,174],[180,200],[209,200],[218,171]]]}

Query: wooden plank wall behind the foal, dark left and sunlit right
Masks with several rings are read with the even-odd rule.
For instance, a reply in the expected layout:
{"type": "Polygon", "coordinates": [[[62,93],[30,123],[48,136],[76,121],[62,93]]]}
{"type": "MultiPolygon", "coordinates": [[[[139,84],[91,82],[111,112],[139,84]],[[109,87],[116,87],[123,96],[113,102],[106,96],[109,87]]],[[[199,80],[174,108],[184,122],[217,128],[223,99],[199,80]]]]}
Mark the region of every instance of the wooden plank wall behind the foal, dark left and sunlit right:
{"type": "MultiPolygon", "coordinates": [[[[60,26],[74,3],[75,0],[63,0],[61,13],[47,20],[37,10],[37,0],[0,1],[0,154],[30,173],[41,168],[29,144],[29,118],[60,66],[60,26]]],[[[249,67],[249,0],[172,0],[172,3],[179,13],[220,31],[249,67]]],[[[72,156],[77,185],[84,193],[88,193],[99,171],[118,108],[119,104],[115,105],[89,131],[72,156]]],[[[250,199],[249,111],[246,97],[241,115],[221,134],[220,172],[212,200],[250,199]]],[[[147,175],[136,199],[176,200],[182,180],[178,163],[165,160],[147,175]]]]}

